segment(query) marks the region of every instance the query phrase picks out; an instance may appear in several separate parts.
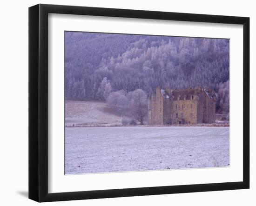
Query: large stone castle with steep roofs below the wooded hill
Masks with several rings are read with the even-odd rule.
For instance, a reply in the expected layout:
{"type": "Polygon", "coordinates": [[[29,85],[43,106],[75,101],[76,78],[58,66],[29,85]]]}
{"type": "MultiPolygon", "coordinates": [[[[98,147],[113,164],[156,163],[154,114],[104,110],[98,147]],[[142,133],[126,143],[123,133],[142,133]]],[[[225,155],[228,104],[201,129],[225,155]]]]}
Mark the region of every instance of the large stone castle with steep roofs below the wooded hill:
{"type": "Polygon", "coordinates": [[[148,124],[215,123],[216,94],[212,88],[161,89],[148,100],[148,124]]]}

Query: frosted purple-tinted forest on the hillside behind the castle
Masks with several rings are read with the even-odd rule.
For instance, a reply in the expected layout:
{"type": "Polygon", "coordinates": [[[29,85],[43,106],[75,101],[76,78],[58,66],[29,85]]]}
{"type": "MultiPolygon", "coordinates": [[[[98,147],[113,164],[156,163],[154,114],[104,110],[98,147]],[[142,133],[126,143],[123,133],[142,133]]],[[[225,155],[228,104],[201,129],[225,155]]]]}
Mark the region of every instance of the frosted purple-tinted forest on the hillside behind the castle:
{"type": "MultiPolygon", "coordinates": [[[[65,98],[107,100],[156,86],[212,86],[229,113],[229,40],[65,32],[65,98]]],[[[130,94],[131,96],[131,94],[130,94]]]]}

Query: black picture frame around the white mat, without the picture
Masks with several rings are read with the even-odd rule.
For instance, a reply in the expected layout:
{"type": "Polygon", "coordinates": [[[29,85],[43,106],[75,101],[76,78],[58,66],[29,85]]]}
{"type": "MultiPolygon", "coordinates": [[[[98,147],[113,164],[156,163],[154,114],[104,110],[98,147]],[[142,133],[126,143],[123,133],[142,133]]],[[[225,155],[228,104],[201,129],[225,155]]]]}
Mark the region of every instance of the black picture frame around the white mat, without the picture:
{"type": "MultiPolygon", "coordinates": [[[[242,108],[241,108],[242,109],[242,108]]],[[[242,126],[241,126],[242,129],[242,126]]],[[[29,7],[29,199],[38,202],[249,188],[249,18],[39,4],[29,7]],[[243,181],[48,193],[48,14],[80,14],[243,25],[243,181]]]]}

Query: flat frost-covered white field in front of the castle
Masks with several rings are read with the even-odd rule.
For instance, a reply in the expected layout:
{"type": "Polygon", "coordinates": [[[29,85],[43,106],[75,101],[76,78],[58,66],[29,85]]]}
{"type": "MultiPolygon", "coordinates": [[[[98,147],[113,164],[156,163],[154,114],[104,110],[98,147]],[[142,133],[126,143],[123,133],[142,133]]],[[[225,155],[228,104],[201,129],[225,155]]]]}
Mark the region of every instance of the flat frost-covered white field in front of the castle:
{"type": "Polygon", "coordinates": [[[229,127],[66,128],[66,174],[229,166],[229,127]]]}

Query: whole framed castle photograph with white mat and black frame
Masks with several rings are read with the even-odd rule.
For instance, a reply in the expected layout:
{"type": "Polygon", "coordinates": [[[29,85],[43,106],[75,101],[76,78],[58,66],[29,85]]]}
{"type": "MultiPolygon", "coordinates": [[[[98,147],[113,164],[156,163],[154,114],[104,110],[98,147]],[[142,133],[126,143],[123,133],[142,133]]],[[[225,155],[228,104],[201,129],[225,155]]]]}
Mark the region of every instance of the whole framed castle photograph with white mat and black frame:
{"type": "Polygon", "coordinates": [[[29,198],[249,188],[249,18],[29,8],[29,198]]]}

